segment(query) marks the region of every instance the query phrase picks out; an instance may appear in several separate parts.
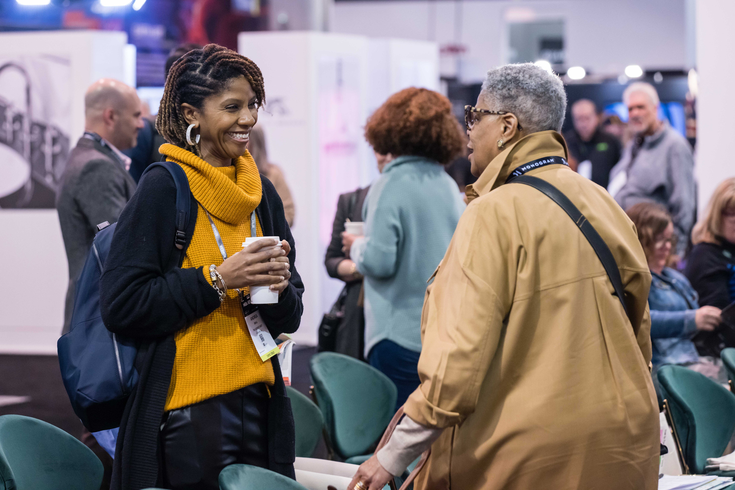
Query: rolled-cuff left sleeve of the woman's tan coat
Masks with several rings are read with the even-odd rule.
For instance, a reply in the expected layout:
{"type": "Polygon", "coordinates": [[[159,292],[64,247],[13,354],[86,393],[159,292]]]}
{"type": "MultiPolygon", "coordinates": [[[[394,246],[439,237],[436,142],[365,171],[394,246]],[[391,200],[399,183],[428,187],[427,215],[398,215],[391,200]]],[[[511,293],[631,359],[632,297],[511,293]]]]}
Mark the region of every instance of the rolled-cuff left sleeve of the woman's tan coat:
{"type": "Polygon", "coordinates": [[[513,250],[503,232],[514,226],[476,201],[459,220],[424,301],[421,384],[404,407],[420,425],[450,427],[475,411],[512,305],[517,256],[523,253],[513,250]]]}

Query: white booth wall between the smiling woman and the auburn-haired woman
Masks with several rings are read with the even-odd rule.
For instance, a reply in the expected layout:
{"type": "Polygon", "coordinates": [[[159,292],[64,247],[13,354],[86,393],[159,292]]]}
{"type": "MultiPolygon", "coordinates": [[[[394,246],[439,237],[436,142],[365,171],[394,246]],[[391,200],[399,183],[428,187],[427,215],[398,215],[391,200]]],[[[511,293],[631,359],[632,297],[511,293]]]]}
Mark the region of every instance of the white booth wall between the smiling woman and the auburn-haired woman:
{"type": "Polygon", "coordinates": [[[402,88],[436,89],[438,47],[324,32],[242,32],[238,51],[263,73],[266,104],[258,124],[296,207],[295,265],[306,291],[294,339],[315,345],[321,317],[343,287],[324,267],[337,198],[378,175],[365,120],[402,88]]]}

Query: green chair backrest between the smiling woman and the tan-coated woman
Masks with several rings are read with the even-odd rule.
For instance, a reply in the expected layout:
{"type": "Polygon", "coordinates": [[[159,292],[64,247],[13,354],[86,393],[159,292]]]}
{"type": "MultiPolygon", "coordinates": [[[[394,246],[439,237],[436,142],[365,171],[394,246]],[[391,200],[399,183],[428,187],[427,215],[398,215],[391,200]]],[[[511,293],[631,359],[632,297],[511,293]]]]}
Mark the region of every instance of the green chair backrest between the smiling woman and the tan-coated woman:
{"type": "Polygon", "coordinates": [[[370,453],[393,416],[398,390],[370,364],[333,352],[311,359],[314,392],[340,458],[370,453]]]}

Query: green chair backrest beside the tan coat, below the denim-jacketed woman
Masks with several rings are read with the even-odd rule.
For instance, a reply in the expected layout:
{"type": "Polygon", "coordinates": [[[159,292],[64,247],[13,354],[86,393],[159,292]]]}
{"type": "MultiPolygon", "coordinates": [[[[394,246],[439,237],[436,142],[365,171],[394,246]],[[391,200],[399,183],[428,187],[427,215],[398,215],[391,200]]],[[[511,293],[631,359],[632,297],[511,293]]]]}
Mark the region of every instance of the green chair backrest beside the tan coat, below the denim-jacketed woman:
{"type": "Polygon", "coordinates": [[[661,394],[690,473],[704,474],[707,458],[719,458],[735,429],[735,395],[686,367],[659,369],[661,394]]]}

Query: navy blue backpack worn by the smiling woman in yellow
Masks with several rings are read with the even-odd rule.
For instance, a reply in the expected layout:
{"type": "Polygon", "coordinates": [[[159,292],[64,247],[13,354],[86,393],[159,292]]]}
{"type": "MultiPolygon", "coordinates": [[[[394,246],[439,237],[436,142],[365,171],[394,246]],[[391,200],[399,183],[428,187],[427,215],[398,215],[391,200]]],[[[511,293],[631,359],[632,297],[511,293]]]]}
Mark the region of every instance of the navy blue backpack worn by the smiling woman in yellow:
{"type": "MultiPolygon", "coordinates": [[[[172,245],[182,250],[186,243],[185,230],[191,203],[189,181],[182,167],[173,162],[153,163],[143,176],[158,166],[168,170],[176,183],[176,242],[172,245]]],[[[112,334],[102,322],[99,281],[110,251],[115,223],[100,228],[76,283],[71,331],[59,339],[57,348],[61,377],[74,413],[107,452],[111,452],[111,444],[114,453],[114,441],[123,411],[138,380],[135,369],[137,345],[133,339],[112,334]],[[111,438],[110,442],[104,444],[100,436],[111,438]]]]}

